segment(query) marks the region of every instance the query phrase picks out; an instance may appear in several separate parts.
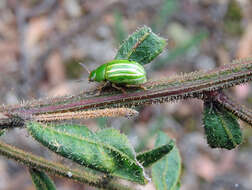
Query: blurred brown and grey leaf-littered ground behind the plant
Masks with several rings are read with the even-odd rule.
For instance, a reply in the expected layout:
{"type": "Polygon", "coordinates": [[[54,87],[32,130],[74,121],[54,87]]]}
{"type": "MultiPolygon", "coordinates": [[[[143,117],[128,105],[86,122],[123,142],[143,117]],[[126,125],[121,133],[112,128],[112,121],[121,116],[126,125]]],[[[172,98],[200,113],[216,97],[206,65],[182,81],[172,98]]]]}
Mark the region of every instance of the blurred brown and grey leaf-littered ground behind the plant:
{"type": "MultiPolygon", "coordinates": [[[[94,69],[112,60],[123,39],[143,25],[168,39],[166,50],[146,66],[149,80],[212,69],[252,54],[251,0],[1,0],[0,103],[95,88],[78,63],[94,69]]],[[[251,84],[227,91],[251,105],[251,84]]],[[[137,151],[153,148],[156,132],[165,131],[181,151],[182,190],[252,189],[250,126],[240,122],[243,144],[225,151],[208,147],[199,100],[144,106],[139,111],[136,119],[84,122],[93,130],[119,129],[137,151]]],[[[1,140],[70,164],[33,141],[24,129],[8,131],[1,140]]],[[[61,178],[54,181],[59,190],[95,189],[61,178]]],[[[16,189],[34,189],[29,173],[0,157],[0,190],[16,189]]]]}

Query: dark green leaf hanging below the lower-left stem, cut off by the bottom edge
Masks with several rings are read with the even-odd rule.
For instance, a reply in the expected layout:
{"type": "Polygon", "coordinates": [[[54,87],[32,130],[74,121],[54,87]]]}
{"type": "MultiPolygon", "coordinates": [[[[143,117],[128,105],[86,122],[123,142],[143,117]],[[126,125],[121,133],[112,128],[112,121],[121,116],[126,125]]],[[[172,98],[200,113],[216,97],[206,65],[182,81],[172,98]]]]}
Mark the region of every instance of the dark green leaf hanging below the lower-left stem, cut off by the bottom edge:
{"type": "Polygon", "coordinates": [[[29,172],[36,190],[56,190],[53,181],[44,172],[30,168],[29,172]]]}

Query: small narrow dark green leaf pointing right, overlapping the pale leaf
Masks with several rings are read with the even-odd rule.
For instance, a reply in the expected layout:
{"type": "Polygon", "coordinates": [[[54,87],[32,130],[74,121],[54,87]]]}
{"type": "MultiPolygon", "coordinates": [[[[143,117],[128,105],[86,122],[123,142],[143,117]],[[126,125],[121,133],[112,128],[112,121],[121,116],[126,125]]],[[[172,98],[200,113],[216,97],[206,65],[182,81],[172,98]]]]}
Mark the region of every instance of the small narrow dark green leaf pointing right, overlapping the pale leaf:
{"type": "Polygon", "coordinates": [[[171,140],[168,144],[159,146],[150,151],[139,153],[137,160],[146,168],[154,164],[156,161],[167,155],[174,147],[174,142],[171,140]]]}

